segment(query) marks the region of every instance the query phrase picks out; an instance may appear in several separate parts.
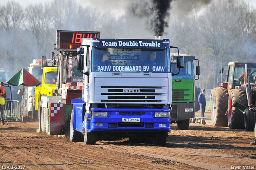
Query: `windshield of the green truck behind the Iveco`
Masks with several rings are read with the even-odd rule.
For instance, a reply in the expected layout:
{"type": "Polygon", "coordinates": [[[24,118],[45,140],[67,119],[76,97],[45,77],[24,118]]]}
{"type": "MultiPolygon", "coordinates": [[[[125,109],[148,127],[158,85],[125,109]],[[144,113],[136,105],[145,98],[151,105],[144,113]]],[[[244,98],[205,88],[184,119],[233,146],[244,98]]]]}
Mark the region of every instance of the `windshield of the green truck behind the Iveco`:
{"type": "MultiPolygon", "coordinates": [[[[172,73],[177,74],[179,69],[177,68],[176,63],[172,63],[172,73]]],[[[194,65],[193,61],[185,62],[184,68],[180,69],[180,73],[172,76],[172,79],[194,79],[194,65]]]]}

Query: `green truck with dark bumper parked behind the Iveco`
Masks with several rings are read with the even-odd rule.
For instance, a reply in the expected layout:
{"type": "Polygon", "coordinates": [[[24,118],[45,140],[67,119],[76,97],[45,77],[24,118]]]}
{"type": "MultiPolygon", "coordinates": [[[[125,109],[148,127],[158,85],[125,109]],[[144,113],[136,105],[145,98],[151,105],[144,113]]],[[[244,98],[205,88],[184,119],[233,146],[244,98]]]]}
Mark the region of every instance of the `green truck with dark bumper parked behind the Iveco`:
{"type": "Polygon", "coordinates": [[[195,102],[197,101],[198,88],[195,88],[195,80],[199,79],[200,66],[199,60],[194,56],[180,54],[184,56],[184,68],[177,69],[178,54],[171,54],[172,62],[172,110],[171,123],[177,123],[178,129],[187,130],[190,118],[195,116],[195,102]],[[194,70],[194,61],[196,66],[196,75],[194,70]],[[197,78],[195,78],[197,77],[197,78]]]}

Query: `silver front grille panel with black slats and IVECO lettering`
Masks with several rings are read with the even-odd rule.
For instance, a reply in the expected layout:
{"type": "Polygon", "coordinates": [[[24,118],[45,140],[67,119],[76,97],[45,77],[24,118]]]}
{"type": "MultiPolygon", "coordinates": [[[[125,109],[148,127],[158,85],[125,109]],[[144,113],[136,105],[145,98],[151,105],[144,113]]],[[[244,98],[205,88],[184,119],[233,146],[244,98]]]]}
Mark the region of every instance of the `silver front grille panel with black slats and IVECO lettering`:
{"type": "MultiPolygon", "coordinates": [[[[168,83],[166,79],[155,78],[148,79],[112,79],[106,80],[105,83],[100,81],[95,84],[94,101],[104,103],[162,103],[168,102],[168,83]],[[162,82],[161,82],[162,81],[162,82]],[[126,82],[126,83],[125,83],[126,82]],[[146,83],[145,83],[146,82],[146,83]],[[130,86],[131,84],[152,84],[153,86],[130,86]],[[108,86],[107,84],[115,84],[108,86]],[[104,85],[103,85],[104,84],[104,85]],[[121,85],[122,86],[118,86],[121,85]],[[123,86],[126,84],[127,86],[123,86]]],[[[96,82],[96,81],[95,81],[96,82]]]]}

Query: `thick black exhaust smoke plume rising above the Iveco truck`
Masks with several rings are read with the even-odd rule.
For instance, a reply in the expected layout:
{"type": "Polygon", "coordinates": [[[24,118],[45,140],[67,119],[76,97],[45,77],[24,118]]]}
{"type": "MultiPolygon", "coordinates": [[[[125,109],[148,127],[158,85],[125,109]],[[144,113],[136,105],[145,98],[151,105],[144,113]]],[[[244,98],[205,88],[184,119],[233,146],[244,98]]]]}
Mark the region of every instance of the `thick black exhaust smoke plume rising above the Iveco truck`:
{"type": "Polygon", "coordinates": [[[132,4],[132,13],[139,18],[147,18],[148,30],[156,36],[162,36],[168,27],[168,12],[172,0],[140,0],[132,4]]]}

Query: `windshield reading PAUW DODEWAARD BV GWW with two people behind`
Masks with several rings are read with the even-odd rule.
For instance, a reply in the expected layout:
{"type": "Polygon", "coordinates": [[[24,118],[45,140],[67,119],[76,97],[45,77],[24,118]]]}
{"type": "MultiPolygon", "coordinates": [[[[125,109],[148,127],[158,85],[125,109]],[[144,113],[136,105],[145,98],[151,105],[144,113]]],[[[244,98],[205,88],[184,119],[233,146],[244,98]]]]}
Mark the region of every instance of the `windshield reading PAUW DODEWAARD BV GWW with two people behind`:
{"type": "Polygon", "coordinates": [[[92,72],[170,72],[170,50],[92,48],[92,72]]]}

